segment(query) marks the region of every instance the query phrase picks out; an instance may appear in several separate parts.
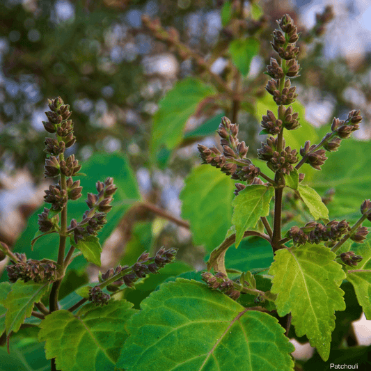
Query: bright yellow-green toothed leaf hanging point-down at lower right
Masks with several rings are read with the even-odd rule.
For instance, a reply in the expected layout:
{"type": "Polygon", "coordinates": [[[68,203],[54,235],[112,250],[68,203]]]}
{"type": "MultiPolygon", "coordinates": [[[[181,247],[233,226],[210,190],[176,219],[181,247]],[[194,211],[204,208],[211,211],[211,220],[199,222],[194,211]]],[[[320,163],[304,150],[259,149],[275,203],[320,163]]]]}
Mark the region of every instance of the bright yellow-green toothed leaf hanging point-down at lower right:
{"type": "Polygon", "coordinates": [[[306,334],[322,359],[329,358],[335,310],[345,310],[340,283],[345,278],[336,254],[322,245],[305,244],[276,251],[269,269],[278,315],[292,313],[297,336],[306,334]]]}

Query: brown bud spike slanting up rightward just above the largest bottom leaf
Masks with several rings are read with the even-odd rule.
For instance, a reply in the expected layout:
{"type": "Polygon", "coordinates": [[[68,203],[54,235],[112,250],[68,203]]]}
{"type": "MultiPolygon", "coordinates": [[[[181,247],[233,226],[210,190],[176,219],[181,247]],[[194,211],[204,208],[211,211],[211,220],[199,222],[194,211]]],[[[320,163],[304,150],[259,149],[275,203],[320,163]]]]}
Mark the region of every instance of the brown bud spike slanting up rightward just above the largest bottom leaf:
{"type": "Polygon", "coordinates": [[[176,253],[176,248],[169,248],[168,250],[165,250],[164,247],[160,248],[156,255],[152,258],[149,258],[149,253],[142,253],[132,267],[128,267],[127,265],[122,267],[118,265],[116,269],[113,270],[111,268],[106,271],[106,273],[100,276],[100,283],[109,280],[109,278],[116,276],[116,274],[120,274],[122,271],[126,271],[127,273],[121,276],[118,281],[108,285],[107,290],[115,292],[119,290],[121,285],[124,284],[127,287],[134,287],[134,284],[139,280],[139,278],[144,278],[147,274],[151,273],[157,274],[159,273],[159,269],[173,262],[175,260],[176,253]]]}

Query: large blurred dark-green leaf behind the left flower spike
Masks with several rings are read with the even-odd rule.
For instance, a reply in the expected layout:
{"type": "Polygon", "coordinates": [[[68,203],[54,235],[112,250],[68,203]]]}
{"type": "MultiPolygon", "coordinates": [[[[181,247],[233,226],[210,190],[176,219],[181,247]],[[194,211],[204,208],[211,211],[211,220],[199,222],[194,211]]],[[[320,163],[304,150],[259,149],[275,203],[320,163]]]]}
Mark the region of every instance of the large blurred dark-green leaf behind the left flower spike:
{"type": "MultiPolygon", "coordinates": [[[[91,192],[97,193],[95,183],[100,180],[104,181],[107,177],[113,177],[114,183],[118,190],[113,196],[112,210],[107,214],[107,223],[99,232],[100,243],[103,245],[104,241],[111,235],[111,232],[116,228],[118,222],[123,217],[125,212],[131,205],[141,198],[139,194],[136,179],[129,166],[127,158],[116,152],[107,154],[104,152],[97,153],[90,157],[88,161],[84,162],[83,170],[88,175],[81,178],[81,186],[84,187],[83,196],[79,200],[68,204],[68,220],[74,218],[81,221],[81,217],[88,207],[86,205],[86,194],[91,192]]],[[[43,258],[57,260],[59,237],[56,233],[52,233],[41,237],[37,240],[31,251],[31,239],[35,235],[35,230],[38,230],[38,214],[44,210],[44,207],[50,207],[50,204],[45,204],[40,207],[30,218],[26,229],[17,240],[14,247],[14,252],[26,253],[27,257],[36,260],[43,258]]],[[[76,269],[77,267],[84,269],[86,260],[83,256],[74,259],[68,269],[76,269]]],[[[6,274],[1,276],[1,281],[6,281],[8,277],[6,274]]]]}

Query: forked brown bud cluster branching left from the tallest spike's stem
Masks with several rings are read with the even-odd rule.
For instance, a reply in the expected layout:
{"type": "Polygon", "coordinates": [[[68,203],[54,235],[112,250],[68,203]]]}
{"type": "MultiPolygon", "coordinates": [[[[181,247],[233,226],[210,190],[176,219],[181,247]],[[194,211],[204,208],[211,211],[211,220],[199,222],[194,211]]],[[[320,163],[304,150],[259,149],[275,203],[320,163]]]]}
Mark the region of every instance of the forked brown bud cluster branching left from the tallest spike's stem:
{"type": "Polygon", "coordinates": [[[217,148],[207,148],[199,144],[198,150],[203,164],[211,164],[220,168],[223,173],[230,175],[232,179],[242,180],[248,183],[253,182],[254,178],[260,174],[260,169],[246,159],[248,147],[245,142],[237,139],[238,125],[232,124],[226,117],[221,119],[219,130],[223,153],[217,148]]]}

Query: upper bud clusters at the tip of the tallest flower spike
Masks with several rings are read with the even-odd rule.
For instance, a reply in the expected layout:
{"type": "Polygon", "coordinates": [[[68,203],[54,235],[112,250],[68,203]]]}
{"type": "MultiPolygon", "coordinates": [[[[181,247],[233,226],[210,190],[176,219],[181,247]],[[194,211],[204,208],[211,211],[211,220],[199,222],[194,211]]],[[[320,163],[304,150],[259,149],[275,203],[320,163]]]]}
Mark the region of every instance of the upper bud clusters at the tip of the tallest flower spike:
{"type": "MultiPolygon", "coordinates": [[[[272,79],[268,81],[265,88],[269,94],[273,95],[276,104],[287,105],[297,98],[296,88],[291,86],[290,79],[285,80],[285,77],[298,76],[300,66],[296,58],[299,54],[299,47],[295,43],[299,40],[299,35],[297,26],[294,25],[290,15],[284,15],[278,21],[278,26],[282,31],[275,30],[273,32],[274,41],[271,42],[271,45],[285,63],[280,65],[276,59],[271,58],[270,65],[267,66],[267,74],[272,79]],[[281,84],[283,84],[283,88],[281,88],[281,84]]],[[[282,119],[280,118],[280,120],[282,119]]],[[[269,134],[274,134],[274,132],[269,134]]]]}

